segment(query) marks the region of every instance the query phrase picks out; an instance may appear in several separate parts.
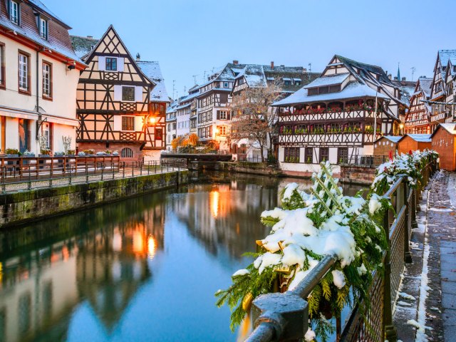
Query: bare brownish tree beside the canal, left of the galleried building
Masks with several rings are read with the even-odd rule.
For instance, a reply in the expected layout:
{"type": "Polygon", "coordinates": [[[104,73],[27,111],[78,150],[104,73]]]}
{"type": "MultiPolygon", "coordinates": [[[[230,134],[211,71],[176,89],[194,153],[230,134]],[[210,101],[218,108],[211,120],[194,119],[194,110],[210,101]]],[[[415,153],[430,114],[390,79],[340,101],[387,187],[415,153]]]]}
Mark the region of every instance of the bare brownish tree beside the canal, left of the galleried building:
{"type": "Polygon", "coordinates": [[[272,155],[274,125],[278,111],[270,107],[281,95],[279,83],[266,86],[251,86],[233,96],[232,124],[229,133],[230,142],[249,140],[251,145],[256,142],[264,162],[264,150],[268,157],[272,155]]]}

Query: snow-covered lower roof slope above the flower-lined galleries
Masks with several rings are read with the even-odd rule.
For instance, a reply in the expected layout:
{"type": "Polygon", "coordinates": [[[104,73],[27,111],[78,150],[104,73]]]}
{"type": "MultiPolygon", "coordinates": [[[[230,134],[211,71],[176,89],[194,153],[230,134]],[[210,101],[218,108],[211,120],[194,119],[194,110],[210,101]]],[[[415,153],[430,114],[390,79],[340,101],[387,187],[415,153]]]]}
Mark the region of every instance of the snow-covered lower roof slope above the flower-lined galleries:
{"type": "MultiPolygon", "coordinates": [[[[301,88],[296,93],[289,95],[289,97],[283,100],[273,103],[273,106],[281,105],[297,105],[299,103],[315,103],[321,101],[333,101],[351,98],[362,98],[362,97],[375,98],[375,90],[371,87],[366,86],[358,82],[349,83],[342,91],[338,93],[328,93],[320,95],[307,95],[307,89],[301,88]]],[[[388,99],[388,96],[377,93],[378,98],[388,99]]]]}

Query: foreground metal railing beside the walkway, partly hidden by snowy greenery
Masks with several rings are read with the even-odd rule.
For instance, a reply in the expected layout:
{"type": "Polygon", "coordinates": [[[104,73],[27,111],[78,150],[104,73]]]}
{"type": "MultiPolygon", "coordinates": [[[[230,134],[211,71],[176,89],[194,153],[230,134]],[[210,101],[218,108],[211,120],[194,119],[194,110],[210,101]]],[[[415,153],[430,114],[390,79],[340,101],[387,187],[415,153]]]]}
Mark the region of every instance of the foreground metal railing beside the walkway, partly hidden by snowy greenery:
{"type": "MultiPolygon", "coordinates": [[[[362,318],[355,307],[342,326],[336,318],[336,341],[396,341],[397,331],[393,326],[392,306],[400,284],[405,263],[411,261],[409,242],[412,227],[416,226],[415,212],[420,194],[430,176],[435,172],[435,163],[428,163],[423,171],[423,182],[417,189],[408,187],[400,177],[384,197],[391,200],[394,210],[385,212],[383,229],[389,237],[389,250],[383,254],[383,273],[373,274],[369,289],[371,307],[362,318]]],[[[284,294],[265,294],[252,304],[254,331],[249,342],[299,341],[309,327],[309,308],[305,301],[314,287],[336,262],[336,257],[326,256],[312,269],[298,286],[284,294]]]]}

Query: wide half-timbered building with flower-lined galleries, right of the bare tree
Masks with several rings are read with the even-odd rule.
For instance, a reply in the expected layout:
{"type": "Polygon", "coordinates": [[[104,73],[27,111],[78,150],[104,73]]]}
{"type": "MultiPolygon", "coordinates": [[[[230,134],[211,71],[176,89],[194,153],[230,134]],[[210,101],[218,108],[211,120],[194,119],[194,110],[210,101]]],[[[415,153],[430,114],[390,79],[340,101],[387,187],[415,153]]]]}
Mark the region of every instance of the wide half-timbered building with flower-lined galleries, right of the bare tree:
{"type": "Polygon", "coordinates": [[[320,78],[273,106],[280,110],[281,168],[301,175],[319,162],[373,155],[379,135],[398,134],[405,111],[400,89],[382,68],[337,55],[320,78]]]}

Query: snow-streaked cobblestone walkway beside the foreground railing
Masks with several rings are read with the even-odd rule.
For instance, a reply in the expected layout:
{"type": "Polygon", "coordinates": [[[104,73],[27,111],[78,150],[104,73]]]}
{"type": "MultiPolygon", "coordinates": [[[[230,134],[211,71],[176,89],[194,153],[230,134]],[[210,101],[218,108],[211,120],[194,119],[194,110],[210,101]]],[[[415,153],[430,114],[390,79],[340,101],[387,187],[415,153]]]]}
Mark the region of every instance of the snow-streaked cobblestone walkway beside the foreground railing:
{"type": "Polygon", "coordinates": [[[398,339],[456,341],[456,174],[438,172],[420,207],[410,243],[413,264],[405,267],[395,308],[398,339]]]}

